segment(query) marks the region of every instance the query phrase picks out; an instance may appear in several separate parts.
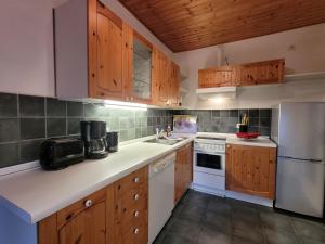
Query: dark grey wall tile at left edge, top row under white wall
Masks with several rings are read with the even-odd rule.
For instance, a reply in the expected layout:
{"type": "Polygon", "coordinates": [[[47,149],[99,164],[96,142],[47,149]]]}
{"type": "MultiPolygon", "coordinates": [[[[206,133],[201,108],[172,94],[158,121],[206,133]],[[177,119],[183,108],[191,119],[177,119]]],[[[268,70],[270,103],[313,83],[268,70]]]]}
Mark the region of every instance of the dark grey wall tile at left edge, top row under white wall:
{"type": "Polygon", "coordinates": [[[0,93],[0,117],[17,117],[17,95],[0,93]]]}

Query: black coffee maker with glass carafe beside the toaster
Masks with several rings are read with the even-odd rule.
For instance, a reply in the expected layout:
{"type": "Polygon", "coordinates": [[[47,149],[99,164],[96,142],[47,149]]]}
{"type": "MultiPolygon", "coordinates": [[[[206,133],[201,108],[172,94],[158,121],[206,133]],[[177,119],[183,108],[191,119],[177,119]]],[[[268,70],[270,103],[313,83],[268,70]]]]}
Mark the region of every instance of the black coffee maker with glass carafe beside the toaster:
{"type": "Polygon", "coordinates": [[[108,156],[105,121],[81,121],[81,138],[86,158],[98,159],[108,156]]]}

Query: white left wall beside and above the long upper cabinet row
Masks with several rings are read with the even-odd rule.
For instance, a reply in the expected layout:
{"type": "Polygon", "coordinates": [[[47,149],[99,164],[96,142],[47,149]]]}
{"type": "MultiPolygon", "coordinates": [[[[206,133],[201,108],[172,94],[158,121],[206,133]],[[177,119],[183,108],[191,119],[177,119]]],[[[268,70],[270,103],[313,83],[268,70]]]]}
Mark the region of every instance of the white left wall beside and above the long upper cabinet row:
{"type": "MultiPolygon", "coordinates": [[[[54,97],[52,8],[67,0],[1,0],[0,92],[54,97]]],[[[104,0],[121,18],[173,59],[117,0],[104,0]]]]}

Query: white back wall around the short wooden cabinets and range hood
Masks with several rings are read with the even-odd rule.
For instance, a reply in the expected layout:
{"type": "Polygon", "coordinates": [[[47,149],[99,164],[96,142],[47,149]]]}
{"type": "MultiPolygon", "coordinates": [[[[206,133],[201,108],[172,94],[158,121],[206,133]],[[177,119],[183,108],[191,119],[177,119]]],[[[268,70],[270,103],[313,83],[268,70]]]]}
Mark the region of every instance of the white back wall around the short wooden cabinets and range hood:
{"type": "Polygon", "coordinates": [[[325,100],[325,80],[300,80],[282,87],[251,87],[239,89],[235,100],[216,103],[197,99],[197,72],[200,68],[284,57],[286,74],[325,72],[325,24],[285,33],[251,38],[222,46],[176,54],[187,78],[182,86],[188,90],[183,105],[191,108],[270,107],[280,101],[325,100]],[[294,48],[291,48],[294,47],[294,48]],[[292,50],[294,49],[294,50],[292,50]]]}

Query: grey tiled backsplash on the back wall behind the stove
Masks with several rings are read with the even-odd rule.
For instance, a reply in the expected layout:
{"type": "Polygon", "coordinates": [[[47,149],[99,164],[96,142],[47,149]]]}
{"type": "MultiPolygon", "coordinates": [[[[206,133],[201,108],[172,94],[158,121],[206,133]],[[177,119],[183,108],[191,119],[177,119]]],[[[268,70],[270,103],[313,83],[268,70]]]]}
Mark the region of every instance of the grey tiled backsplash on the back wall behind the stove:
{"type": "Polygon", "coordinates": [[[174,111],[174,114],[196,115],[199,132],[220,133],[236,132],[244,113],[249,116],[249,131],[270,136],[271,110],[174,111]]]}

